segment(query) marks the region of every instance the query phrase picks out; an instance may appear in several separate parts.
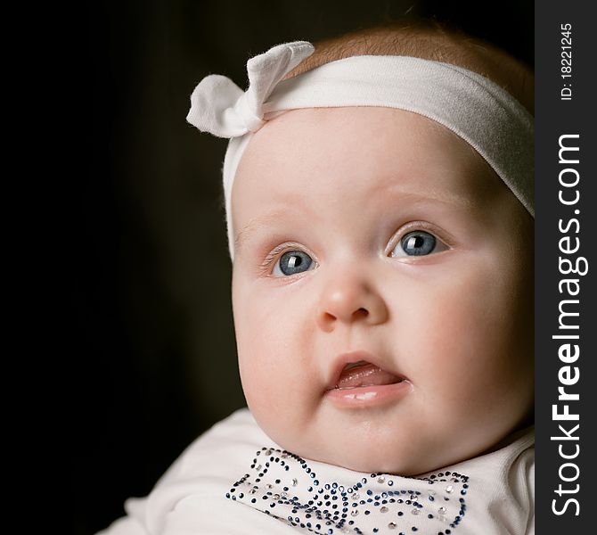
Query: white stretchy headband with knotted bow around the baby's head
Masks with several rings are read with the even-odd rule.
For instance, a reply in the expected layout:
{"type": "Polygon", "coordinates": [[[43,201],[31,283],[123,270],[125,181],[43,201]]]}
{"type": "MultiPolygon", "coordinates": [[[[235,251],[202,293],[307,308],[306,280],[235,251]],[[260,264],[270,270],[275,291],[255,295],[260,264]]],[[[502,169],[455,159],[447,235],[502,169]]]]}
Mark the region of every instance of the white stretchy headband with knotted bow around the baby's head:
{"type": "Polygon", "coordinates": [[[186,120],[230,138],[223,175],[231,259],[232,188],[242,153],[268,119],[299,108],[380,106],[433,119],[470,144],[534,217],[534,119],[502,87],[449,63],[389,55],[352,56],[282,81],[314,50],[297,41],[251,58],[246,92],[220,75],[192,92],[186,120]]]}

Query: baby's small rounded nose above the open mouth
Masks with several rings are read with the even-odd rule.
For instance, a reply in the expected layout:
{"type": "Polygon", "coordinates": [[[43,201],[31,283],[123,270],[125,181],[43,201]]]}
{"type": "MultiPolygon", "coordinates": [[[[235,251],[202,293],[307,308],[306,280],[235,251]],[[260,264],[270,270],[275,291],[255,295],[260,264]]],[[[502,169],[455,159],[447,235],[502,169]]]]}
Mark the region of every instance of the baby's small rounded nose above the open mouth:
{"type": "Polygon", "coordinates": [[[337,276],[323,289],[317,324],[330,332],[338,323],[378,325],[388,319],[388,309],[372,284],[358,276],[337,276]]]}

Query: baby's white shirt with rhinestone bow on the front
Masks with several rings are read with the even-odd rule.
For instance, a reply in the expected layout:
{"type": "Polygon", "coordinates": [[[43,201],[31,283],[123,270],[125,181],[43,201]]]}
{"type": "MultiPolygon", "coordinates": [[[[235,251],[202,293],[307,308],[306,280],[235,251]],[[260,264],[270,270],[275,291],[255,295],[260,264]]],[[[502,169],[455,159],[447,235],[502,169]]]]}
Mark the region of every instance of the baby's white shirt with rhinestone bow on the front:
{"type": "Polygon", "coordinates": [[[101,535],[531,535],[534,444],[528,428],[417,477],[359,473],[282,450],[241,408],[192,442],[148,497],[127,499],[127,516],[101,535]]]}

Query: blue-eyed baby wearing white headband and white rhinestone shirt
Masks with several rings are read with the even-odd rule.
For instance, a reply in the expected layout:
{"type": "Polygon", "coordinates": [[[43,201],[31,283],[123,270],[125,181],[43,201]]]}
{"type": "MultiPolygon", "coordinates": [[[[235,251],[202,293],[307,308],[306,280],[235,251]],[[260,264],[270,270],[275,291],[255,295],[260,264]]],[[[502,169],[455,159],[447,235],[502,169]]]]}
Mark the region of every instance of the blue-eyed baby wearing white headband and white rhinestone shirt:
{"type": "Polygon", "coordinates": [[[532,75],[438,28],[210,76],[248,408],[117,534],[534,532],[532,75]]]}

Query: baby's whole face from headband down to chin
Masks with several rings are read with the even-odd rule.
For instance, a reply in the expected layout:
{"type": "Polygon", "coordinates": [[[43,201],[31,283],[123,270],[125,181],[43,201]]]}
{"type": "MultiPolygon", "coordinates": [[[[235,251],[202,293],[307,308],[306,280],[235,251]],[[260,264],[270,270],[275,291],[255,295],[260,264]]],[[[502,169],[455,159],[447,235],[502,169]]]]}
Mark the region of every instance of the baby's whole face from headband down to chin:
{"type": "Polygon", "coordinates": [[[533,220],[460,138],[408,111],[289,111],[232,204],[241,381],[282,448],[411,475],[527,422],[533,220]]]}

